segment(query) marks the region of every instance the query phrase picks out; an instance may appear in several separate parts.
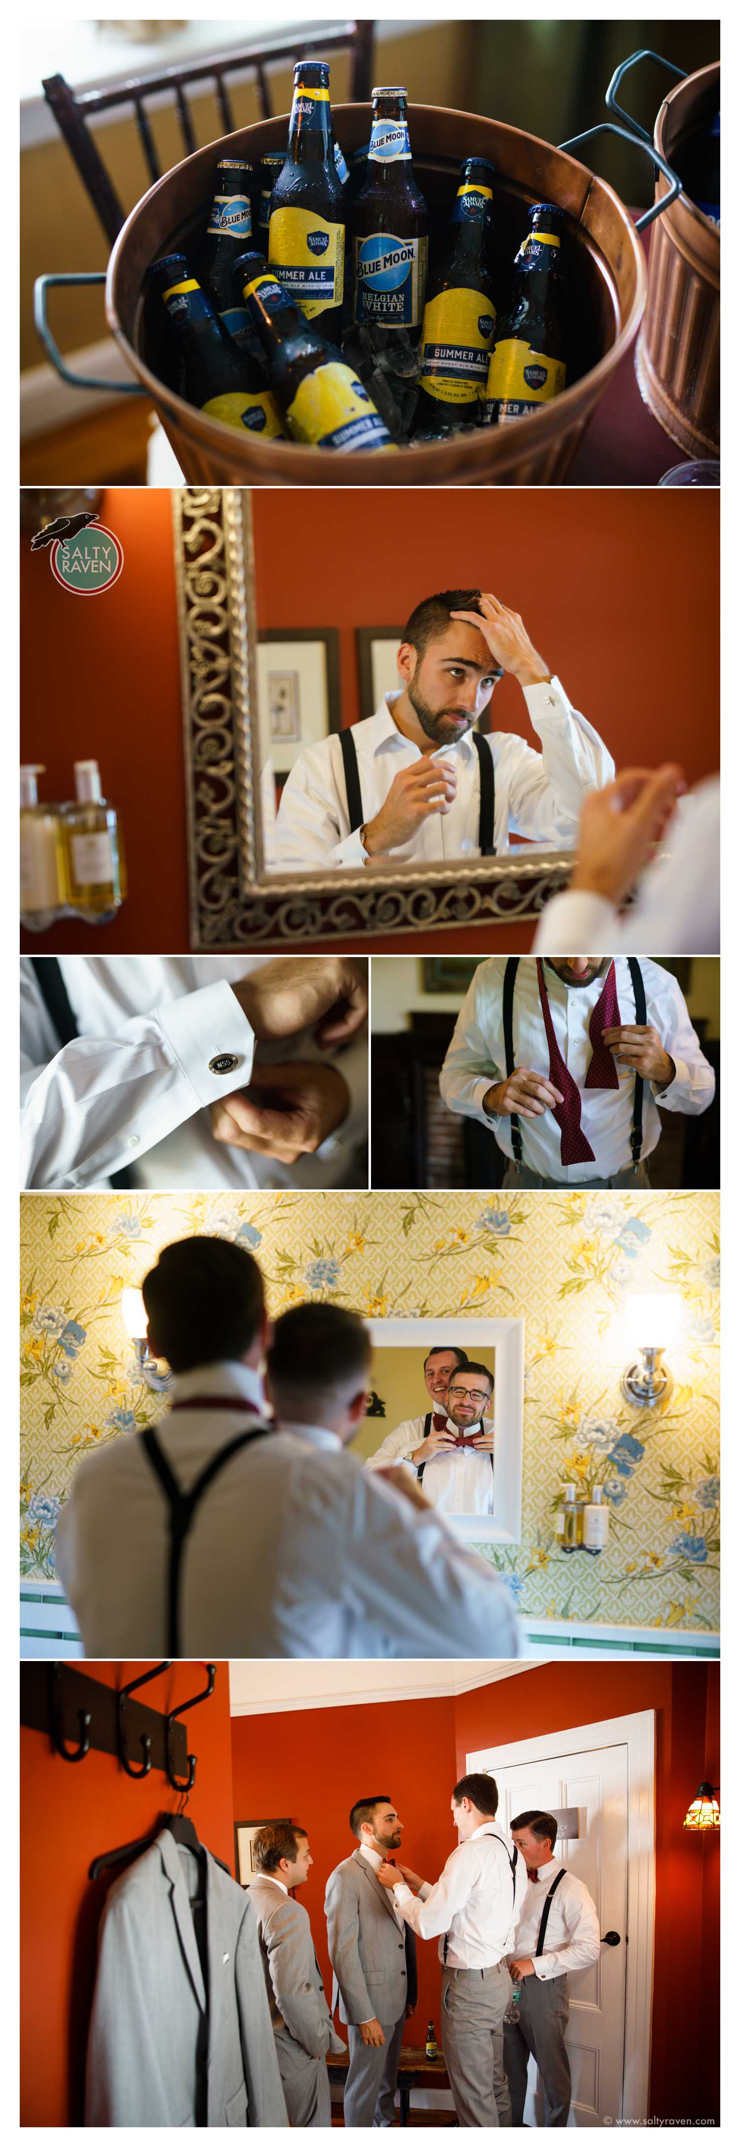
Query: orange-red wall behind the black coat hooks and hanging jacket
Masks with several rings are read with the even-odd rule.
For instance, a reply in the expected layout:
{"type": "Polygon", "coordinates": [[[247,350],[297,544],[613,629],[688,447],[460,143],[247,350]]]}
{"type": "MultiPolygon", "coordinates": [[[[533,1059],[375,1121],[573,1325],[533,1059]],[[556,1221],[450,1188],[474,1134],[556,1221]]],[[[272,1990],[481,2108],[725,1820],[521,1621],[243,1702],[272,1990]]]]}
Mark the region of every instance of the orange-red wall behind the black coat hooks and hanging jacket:
{"type": "MultiPolygon", "coordinates": [[[[152,1664],[86,1662],[107,1685],[152,1664]]],[[[24,1670],[21,1670],[24,1675],[24,1670]]],[[[204,1683],[202,1664],[176,1664],[139,1698],[157,1711],[187,1700],[204,1683]]],[[[189,1814],[199,1840],[234,1870],[234,1795],[227,1666],[212,1698],[184,1715],[197,1752],[189,1814]]],[[[86,2031],[92,2003],[97,1930],[107,1885],[120,1872],[88,1879],[105,1849],[154,1831],[176,1795],[163,1773],[131,1782],[107,1752],[66,1765],[41,1730],[21,1728],[21,2126],[82,2126],[86,2031]]]]}

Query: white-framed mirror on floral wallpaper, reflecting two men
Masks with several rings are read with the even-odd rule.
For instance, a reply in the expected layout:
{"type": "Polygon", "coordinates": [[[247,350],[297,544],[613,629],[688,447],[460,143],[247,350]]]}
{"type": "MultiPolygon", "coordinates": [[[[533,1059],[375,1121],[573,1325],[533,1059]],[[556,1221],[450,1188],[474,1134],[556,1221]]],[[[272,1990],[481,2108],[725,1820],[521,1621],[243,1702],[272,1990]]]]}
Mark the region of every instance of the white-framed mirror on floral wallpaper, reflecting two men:
{"type": "Polygon", "coordinates": [[[455,1421],[459,1441],[468,1445],[474,1436],[483,1436],[485,1447],[474,1456],[470,1447],[440,1451],[440,1466],[435,1456],[429,1466],[425,1464],[420,1490],[433,1505],[440,1503],[440,1511],[465,1542],[519,1544],[523,1318],[367,1320],[367,1327],[373,1342],[369,1408],[352,1445],[354,1454],[367,1462],[388,1434],[418,1419],[418,1445],[401,1456],[401,1466],[416,1475],[418,1456],[425,1460],[425,1417],[431,1406],[440,1406],[431,1404],[425,1385],[425,1357],[429,1350],[459,1350],[472,1365],[485,1365],[489,1381],[480,1372],[468,1374],[465,1363],[455,1368],[446,1400],[448,1419],[455,1421]],[[474,1415],[465,1417],[465,1408],[474,1415]],[[476,1434],[478,1421],[480,1434],[476,1434]],[[461,1503],[465,1484],[474,1486],[470,1509],[461,1503]]]}

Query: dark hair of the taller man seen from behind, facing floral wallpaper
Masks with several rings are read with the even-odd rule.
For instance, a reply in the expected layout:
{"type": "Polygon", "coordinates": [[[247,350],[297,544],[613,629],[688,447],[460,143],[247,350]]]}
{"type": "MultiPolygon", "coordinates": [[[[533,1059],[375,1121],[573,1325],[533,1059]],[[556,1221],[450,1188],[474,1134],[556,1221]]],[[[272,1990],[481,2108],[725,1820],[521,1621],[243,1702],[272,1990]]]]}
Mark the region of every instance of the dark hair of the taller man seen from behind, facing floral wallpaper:
{"type": "Polygon", "coordinates": [[[180,1237],[144,1275],[142,1297],[157,1348],[174,1372],[240,1363],[264,1318],[257,1260],[227,1237],[180,1237]]]}

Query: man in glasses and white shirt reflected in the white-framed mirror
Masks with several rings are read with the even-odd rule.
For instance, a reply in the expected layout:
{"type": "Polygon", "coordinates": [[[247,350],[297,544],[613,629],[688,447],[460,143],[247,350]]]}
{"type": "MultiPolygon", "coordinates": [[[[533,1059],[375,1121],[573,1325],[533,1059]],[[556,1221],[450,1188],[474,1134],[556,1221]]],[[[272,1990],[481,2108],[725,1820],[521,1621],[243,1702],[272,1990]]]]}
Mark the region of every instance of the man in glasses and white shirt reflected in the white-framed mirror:
{"type": "Polygon", "coordinates": [[[493,1514],[491,1398],[493,1372],[468,1357],[450,1372],[446,1404],[433,1413],[427,1436],[410,1454],[390,1454],[390,1434],[367,1466],[414,1469],[425,1499],[444,1514],[493,1514]]]}

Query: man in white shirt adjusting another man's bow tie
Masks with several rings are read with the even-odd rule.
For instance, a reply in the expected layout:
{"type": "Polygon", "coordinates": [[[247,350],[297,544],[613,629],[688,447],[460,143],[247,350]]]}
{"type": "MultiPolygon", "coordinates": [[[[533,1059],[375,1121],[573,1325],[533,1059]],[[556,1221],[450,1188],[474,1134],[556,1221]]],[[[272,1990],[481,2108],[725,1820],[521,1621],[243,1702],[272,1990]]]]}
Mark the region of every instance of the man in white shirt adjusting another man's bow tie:
{"type": "Polygon", "coordinates": [[[459,2126],[508,2126],[506,1954],[523,1900],[526,1866],[521,1855],[510,1855],[495,1827],[498,1788],[491,1776],[461,1776],[450,1810],[459,1846],[435,1885],[393,1864],[382,1864],[378,1879],[393,1887],[397,1909],[420,1939],[440,1939],[442,2050],[459,2126]]]}

